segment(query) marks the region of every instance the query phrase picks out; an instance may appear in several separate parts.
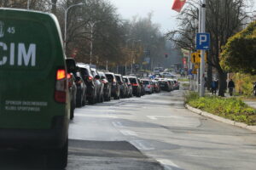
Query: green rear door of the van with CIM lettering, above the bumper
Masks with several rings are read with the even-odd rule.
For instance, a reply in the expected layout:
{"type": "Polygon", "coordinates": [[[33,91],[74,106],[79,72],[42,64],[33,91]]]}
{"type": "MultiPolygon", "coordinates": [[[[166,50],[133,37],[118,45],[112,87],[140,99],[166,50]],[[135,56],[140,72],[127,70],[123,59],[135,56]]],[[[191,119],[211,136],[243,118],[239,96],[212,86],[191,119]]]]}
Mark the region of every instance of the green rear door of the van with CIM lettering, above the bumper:
{"type": "Polygon", "coordinates": [[[67,116],[67,69],[56,23],[52,14],[0,9],[0,128],[47,129],[55,116],[67,116]],[[56,88],[63,89],[60,96],[56,88]]]}

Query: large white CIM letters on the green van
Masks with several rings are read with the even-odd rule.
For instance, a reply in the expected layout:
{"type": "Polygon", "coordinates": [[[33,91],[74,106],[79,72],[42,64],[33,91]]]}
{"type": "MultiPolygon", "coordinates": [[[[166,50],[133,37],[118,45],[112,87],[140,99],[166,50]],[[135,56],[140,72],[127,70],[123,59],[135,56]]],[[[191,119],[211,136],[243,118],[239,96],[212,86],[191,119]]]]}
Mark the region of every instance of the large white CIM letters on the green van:
{"type": "MultiPolygon", "coordinates": [[[[0,50],[8,51],[8,46],[4,42],[0,42],[0,50]]],[[[18,43],[17,65],[36,66],[36,44],[29,44],[26,50],[24,43],[18,43]]],[[[8,63],[7,56],[0,56],[0,65],[8,63]],[[2,59],[1,59],[2,58],[2,59]]],[[[9,65],[15,65],[15,43],[11,42],[9,46],[9,65]]]]}

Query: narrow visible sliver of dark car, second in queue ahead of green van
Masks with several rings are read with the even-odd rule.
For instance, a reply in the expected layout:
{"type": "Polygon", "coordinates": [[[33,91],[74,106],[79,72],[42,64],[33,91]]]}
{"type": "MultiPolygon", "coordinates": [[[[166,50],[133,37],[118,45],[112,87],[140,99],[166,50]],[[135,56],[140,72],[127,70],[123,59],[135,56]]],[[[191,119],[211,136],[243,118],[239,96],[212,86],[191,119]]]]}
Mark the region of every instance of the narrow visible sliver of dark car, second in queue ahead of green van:
{"type": "Polygon", "coordinates": [[[76,96],[76,106],[82,107],[86,102],[86,84],[81,76],[80,71],[78,70],[75,74],[76,86],[77,86],[77,96],[76,96]]]}

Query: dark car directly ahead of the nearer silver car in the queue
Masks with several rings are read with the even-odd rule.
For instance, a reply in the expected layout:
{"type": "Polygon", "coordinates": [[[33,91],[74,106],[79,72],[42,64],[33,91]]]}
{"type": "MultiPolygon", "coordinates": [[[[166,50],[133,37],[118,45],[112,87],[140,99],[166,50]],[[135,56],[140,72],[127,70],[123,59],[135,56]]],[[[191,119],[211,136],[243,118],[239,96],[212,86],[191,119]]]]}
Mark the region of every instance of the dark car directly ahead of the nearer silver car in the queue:
{"type": "Polygon", "coordinates": [[[113,72],[105,72],[108,82],[111,84],[111,97],[113,99],[120,99],[120,88],[113,72]]]}

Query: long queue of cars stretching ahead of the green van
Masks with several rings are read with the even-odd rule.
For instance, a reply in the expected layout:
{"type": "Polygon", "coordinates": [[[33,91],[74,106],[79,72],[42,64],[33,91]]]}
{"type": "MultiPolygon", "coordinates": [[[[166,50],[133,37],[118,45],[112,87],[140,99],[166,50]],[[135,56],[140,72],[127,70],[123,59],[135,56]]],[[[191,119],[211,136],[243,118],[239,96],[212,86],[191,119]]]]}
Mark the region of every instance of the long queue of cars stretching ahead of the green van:
{"type": "Polygon", "coordinates": [[[70,118],[73,119],[74,109],[86,103],[94,105],[113,99],[141,97],[144,94],[160,93],[161,90],[178,89],[177,80],[139,79],[134,76],[122,76],[109,71],[99,71],[96,65],[76,63],[75,59],[66,59],[68,88],[70,94],[70,118]],[[76,65],[72,67],[71,65],[76,65]]]}

